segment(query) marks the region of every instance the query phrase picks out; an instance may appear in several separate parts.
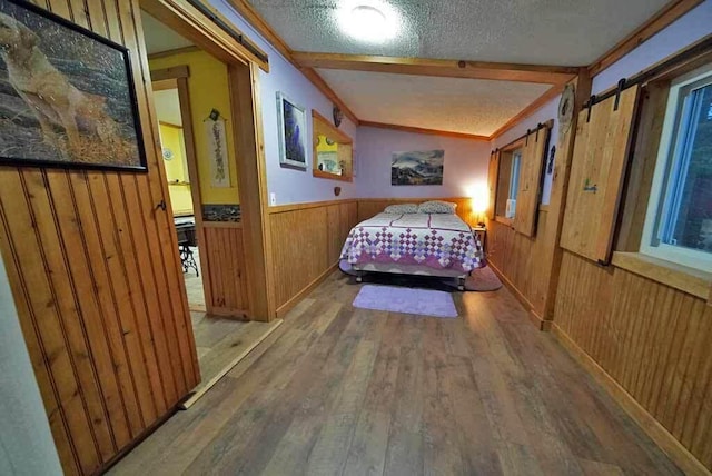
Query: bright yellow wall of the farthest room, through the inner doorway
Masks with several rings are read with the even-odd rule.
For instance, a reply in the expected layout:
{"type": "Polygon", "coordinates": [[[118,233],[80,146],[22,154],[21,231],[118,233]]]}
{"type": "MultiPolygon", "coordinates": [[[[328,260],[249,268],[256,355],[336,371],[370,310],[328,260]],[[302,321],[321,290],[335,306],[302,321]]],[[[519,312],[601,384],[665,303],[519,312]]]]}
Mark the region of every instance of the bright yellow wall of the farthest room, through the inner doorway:
{"type": "Polygon", "coordinates": [[[192,214],[192,197],[190,195],[190,184],[188,178],[188,166],[186,163],[186,143],[182,129],[160,125],[160,143],[164,149],[168,148],[172,152],[172,159],[165,160],[166,176],[168,177],[168,191],[170,192],[170,204],[175,215],[192,214]]]}

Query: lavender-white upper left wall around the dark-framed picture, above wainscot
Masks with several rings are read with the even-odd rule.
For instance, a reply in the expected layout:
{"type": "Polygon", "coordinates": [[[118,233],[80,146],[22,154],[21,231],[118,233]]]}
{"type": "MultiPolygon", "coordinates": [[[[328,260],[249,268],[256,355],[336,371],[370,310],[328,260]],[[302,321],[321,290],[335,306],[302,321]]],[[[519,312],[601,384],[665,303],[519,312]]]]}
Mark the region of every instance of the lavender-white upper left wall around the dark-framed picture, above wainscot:
{"type": "MultiPolygon", "coordinates": [[[[265,160],[267,189],[275,194],[276,205],[334,200],[334,187],[340,187],[338,198],[355,198],[356,184],[312,176],[312,109],[330,118],[333,103],[301,72],[269,44],[247,21],[224,0],[209,0],[228,20],[243,31],[259,48],[269,54],[269,72],[259,71],[259,96],[261,102],[263,130],[265,135],[265,160]],[[294,169],[279,165],[279,139],[277,129],[277,91],[284,92],[307,112],[307,169],[294,169]]],[[[344,118],[342,131],[356,141],[356,126],[344,118]]]]}

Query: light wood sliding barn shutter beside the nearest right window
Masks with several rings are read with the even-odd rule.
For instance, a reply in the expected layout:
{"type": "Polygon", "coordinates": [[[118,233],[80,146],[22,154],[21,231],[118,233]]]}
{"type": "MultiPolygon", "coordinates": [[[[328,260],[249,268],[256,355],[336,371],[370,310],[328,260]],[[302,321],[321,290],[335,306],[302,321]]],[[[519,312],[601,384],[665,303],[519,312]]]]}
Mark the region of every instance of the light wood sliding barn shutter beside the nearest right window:
{"type": "Polygon", "coordinates": [[[639,89],[578,113],[561,246],[596,262],[611,255],[639,89]]]}

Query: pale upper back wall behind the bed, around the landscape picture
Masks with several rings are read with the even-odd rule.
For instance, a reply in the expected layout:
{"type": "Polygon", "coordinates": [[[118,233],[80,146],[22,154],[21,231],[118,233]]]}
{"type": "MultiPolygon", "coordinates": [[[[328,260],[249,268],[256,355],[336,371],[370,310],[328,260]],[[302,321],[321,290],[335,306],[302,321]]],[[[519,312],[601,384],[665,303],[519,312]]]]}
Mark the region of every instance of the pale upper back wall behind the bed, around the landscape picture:
{"type": "Polygon", "coordinates": [[[357,192],[360,198],[468,197],[476,186],[486,187],[490,142],[445,136],[358,128],[356,149],[357,192]],[[445,150],[443,185],[392,186],[393,152],[445,150]]]}

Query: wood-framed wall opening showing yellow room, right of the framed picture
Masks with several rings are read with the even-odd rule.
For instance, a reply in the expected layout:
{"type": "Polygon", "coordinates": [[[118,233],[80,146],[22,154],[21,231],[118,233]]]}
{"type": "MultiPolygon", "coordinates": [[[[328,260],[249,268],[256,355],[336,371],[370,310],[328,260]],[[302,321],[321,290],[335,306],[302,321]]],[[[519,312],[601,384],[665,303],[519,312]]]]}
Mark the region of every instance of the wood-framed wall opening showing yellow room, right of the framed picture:
{"type": "Polygon", "coordinates": [[[354,177],[354,141],[336,129],[322,115],[312,110],[314,177],[352,181],[354,177]]]}

